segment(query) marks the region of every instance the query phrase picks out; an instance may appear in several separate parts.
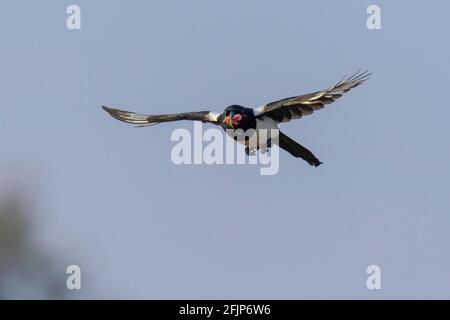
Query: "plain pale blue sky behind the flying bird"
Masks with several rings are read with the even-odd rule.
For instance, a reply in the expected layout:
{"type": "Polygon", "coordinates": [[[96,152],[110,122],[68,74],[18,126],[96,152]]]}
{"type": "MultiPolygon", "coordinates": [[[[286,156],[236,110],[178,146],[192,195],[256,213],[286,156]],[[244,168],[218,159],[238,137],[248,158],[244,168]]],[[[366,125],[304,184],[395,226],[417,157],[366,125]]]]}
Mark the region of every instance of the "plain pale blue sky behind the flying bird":
{"type": "MultiPolygon", "coordinates": [[[[450,298],[445,1],[1,1],[0,174],[82,298],[450,298]],[[65,26],[82,9],[82,30],[65,26]],[[382,30],[366,8],[382,9],[382,30]],[[283,126],[325,164],[175,166],[170,113],[372,79],[283,126]],[[366,267],[382,268],[382,290],[366,267]]],[[[7,188],[3,181],[1,188],[7,188]]],[[[58,270],[58,268],[56,268],[58,270]]],[[[0,279],[1,281],[1,279],[0,279]]],[[[62,286],[64,283],[61,284],[62,286]]]]}

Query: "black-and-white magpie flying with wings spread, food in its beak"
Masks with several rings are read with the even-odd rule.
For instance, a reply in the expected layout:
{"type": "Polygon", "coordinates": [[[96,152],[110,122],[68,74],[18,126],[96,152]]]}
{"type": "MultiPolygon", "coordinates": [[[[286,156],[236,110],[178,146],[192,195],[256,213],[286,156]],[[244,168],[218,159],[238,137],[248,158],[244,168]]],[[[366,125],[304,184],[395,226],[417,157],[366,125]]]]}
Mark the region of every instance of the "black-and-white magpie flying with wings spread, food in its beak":
{"type": "Polygon", "coordinates": [[[130,111],[124,111],[102,106],[113,118],[137,125],[138,127],[153,126],[162,122],[172,122],[179,120],[202,121],[221,126],[228,134],[236,133],[233,137],[249,129],[254,130],[258,135],[256,148],[251,149],[248,140],[238,140],[246,145],[247,155],[253,154],[256,150],[267,150],[271,147],[271,140],[277,141],[280,148],[286,150],[296,158],[302,158],[312,166],[319,166],[322,162],[314,154],[289,138],[283,132],[278,130],[278,124],[288,122],[294,119],[300,119],[303,116],[312,114],[314,111],[322,109],[326,104],[334,102],[336,99],[352,88],[355,88],[369,79],[371,73],[368,71],[356,72],[351,76],[344,77],[341,81],[328,89],[316,91],[313,93],[281,99],[267,103],[259,108],[247,108],[240,105],[231,105],[222,113],[211,111],[195,111],[160,115],[137,114],[130,111]],[[240,131],[238,129],[241,129],[240,131]],[[264,135],[259,136],[261,129],[267,130],[264,135]],[[276,129],[271,131],[271,129],[276,129]],[[276,132],[277,136],[270,135],[267,132],[276,132]]]}

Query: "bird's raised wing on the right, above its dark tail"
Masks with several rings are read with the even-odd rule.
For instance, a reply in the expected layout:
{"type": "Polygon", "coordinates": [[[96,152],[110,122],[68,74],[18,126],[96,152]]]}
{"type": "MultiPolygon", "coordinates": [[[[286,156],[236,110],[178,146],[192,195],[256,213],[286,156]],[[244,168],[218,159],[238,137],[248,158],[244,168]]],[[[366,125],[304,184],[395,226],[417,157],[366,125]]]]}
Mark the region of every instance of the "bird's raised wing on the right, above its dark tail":
{"type": "Polygon", "coordinates": [[[326,104],[334,102],[334,100],[342,97],[345,92],[369,79],[370,75],[371,73],[368,73],[368,71],[358,71],[328,89],[268,103],[254,109],[255,115],[257,117],[269,116],[278,123],[299,119],[322,109],[326,104]]]}

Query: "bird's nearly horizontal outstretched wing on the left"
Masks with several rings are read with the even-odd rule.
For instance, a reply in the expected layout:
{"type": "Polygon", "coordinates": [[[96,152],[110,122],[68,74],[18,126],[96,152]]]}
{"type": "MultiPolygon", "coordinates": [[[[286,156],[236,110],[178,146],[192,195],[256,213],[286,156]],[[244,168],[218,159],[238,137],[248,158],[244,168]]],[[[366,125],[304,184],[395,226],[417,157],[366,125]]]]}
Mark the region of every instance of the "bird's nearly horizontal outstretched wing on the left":
{"type": "Polygon", "coordinates": [[[209,111],[148,115],[108,108],[105,106],[102,106],[102,108],[113,118],[126,123],[135,124],[139,127],[153,126],[161,122],[171,122],[179,120],[194,120],[219,124],[219,114],[215,114],[209,111]]]}

